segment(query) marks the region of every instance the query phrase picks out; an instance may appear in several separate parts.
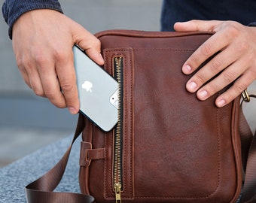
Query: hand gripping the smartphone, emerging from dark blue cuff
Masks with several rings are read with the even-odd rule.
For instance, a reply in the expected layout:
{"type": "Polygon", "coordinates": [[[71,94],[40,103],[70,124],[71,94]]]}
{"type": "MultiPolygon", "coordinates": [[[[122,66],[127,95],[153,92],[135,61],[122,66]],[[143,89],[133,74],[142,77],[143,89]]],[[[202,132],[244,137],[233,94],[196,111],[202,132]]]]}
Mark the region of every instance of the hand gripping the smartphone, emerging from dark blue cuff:
{"type": "Polygon", "coordinates": [[[53,10],[23,14],[13,27],[14,55],[26,84],[35,95],[58,108],[79,111],[72,47],[78,44],[99,65],[100,42],[75,21],[53,10]]]}

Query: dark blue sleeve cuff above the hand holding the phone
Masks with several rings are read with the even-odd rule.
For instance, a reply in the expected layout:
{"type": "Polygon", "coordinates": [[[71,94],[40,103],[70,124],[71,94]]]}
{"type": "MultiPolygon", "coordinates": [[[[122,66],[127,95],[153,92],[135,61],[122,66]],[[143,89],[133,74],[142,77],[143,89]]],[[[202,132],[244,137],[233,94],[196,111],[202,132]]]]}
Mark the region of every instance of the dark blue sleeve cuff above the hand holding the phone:
{"type": "Polygon", "coordinates": [[[12,28],[20,15],[35,9],[52,9],[61,13],[58,0],[5,0],[2,5],[2,14],[9,26],[9,37],[12,38],[12,28]]]}

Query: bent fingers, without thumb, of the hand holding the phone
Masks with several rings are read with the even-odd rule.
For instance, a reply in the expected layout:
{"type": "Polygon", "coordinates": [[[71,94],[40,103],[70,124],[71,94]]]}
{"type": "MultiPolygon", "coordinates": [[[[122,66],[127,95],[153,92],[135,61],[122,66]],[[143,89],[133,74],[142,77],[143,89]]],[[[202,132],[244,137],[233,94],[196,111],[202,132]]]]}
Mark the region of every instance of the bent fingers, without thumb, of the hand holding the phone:
{"type": "Polygon", "coordinates": [[[33,51],[34,60],[23,59],[21,62],[21,73],[35,95],[47,97],[56,107],[69,107],[71,114],[77,114],[79,101],[72,49],[68,53],[61,50],[53,53],[47,56],[33,51]]]}

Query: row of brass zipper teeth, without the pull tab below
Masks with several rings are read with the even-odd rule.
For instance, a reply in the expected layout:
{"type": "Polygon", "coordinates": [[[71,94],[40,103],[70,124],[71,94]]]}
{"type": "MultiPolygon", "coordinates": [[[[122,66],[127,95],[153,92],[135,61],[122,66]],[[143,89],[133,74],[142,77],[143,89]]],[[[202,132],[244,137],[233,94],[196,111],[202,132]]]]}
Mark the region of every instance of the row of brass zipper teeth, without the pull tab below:
{"type": "Polygon", "coordinates": [[[114,136],[114,174],[113,174],[113,185],[116,183],[121,184],[121,63],[122,57],[114,57],[115,74],[118,82],[118,122],[115,129],[114,136]]]}

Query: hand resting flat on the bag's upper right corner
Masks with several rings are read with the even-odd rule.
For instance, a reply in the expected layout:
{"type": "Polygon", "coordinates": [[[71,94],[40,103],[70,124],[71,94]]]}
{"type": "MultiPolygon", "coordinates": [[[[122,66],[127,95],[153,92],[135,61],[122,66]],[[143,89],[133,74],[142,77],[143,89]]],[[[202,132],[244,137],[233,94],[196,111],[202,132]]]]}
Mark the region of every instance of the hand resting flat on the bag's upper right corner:
{"type": "Polygon", "coordinates": [[[242,26],[233,21],[215,20],[175,23],[174,28],[178,32],[215,32],[182,67],[184,74],[191,74],[206,59],[220,51],[187,81],[187,90],[197,92],[200,100],[206,100],[234,81],[233,85],[215,101],[218,107],[223,107],[256,79],[256,28],[242,26]],[[218,77],[211,80],[220,72],[218,77]],[[209,80],[211,81],[208,82],[209,80]]]}

